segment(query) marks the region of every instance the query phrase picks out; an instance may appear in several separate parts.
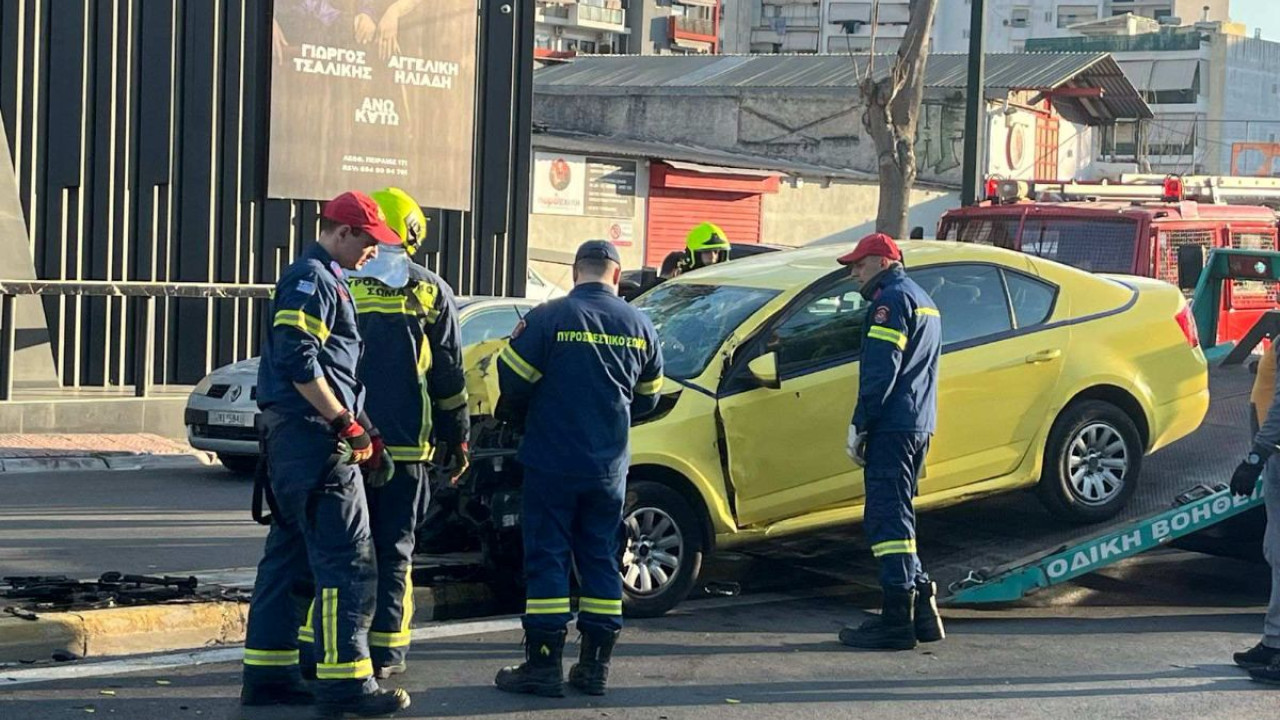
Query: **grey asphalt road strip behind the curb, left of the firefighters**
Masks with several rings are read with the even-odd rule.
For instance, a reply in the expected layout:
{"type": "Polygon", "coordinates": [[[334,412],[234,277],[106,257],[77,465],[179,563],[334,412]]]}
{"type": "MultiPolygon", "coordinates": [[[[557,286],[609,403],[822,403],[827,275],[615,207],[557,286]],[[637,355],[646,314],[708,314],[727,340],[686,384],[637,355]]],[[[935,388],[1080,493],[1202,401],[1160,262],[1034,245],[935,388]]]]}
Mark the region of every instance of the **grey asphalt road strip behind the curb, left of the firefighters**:
{"type": "Polygon", "coordinates": [[[0,577],[256,565],[252,482],[220,465],[0,475],[0,577]]]}

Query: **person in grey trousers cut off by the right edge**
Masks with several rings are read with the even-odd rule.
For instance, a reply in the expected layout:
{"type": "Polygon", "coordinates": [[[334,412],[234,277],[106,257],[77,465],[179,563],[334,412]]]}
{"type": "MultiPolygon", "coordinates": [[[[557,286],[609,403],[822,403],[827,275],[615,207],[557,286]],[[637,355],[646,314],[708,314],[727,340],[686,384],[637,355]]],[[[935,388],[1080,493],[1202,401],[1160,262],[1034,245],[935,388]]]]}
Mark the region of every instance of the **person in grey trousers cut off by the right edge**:
{"type": "Polygon", "coordinates": [[[1271,603],[1262,624],[1262,639],[1252,648],[1236,652],[1234,660],[1254,680],[1272,685],[1280,684],[1280,462],[1274,457],[1280,450],[1280,402],[1275,401],[1277,387],[1276,346],[1272,345],[1258,361],[1251,393],[1258,424],[1253,446],[1231,475],[1231,492],[1238,496],[1257,492],[1258,478],[1262,478],[1267,514],[1262,555],[1271,565],[1271,603]]]}

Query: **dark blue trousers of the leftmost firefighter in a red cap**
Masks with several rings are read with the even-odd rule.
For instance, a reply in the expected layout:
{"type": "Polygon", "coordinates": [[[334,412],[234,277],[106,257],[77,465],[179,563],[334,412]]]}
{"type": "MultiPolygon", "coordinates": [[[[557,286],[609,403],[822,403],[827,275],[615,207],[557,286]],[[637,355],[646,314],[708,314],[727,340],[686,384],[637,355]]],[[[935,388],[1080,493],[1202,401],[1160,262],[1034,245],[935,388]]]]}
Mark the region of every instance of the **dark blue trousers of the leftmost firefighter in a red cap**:
{"type": "Polygon", "coordinates": [[[257,566],[244,638],[244,683],[297,680],[298,625],[314,582],[316,694],[340,700],[378,688],[369,660],[374,542],[360,471],[335,464],[324,425],[264,414],[274,521],[257,566]]]}

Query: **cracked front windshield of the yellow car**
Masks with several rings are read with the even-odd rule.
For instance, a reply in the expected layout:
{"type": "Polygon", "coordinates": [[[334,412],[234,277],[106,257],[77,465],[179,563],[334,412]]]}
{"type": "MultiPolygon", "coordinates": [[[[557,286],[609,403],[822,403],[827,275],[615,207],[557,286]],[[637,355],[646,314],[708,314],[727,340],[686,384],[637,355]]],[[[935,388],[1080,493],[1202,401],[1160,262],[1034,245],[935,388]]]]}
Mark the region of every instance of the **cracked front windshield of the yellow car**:
{"type": "Polygon", "coordinates": [[[666,375],[695,378],[712,355],[776,290],[727,284],[663,283],[635,301],[658,331],[666,375]]]}

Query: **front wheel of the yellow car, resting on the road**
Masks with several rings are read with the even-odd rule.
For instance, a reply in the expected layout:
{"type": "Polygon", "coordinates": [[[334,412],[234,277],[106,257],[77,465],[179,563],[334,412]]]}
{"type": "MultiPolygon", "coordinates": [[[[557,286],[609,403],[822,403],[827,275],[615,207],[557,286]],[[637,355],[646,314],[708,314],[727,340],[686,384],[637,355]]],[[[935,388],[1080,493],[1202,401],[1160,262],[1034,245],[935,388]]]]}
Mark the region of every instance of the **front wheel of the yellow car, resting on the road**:
{"type": "Polygon", "coordinates": [[[689,596],[703,566],[703,527],[675,489],[653,482],[627,486],[623,510],[622,609],[657,618],[689,596]]]}

